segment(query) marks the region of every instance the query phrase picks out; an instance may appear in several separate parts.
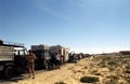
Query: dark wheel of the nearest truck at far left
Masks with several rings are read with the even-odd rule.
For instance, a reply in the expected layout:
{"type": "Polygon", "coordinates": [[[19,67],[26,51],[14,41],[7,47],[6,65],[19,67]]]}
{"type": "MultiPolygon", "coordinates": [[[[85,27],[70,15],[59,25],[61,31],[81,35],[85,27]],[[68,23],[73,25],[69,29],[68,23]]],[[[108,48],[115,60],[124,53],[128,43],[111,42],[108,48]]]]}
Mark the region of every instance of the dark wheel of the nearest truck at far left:
{"type": "Polygon", "coordinates": [[[13,67],[11,66],[8,66],[4,68],[4,78],[5,79],[11,79],[14,74],[14,70],[13,70],[13,67]]]}

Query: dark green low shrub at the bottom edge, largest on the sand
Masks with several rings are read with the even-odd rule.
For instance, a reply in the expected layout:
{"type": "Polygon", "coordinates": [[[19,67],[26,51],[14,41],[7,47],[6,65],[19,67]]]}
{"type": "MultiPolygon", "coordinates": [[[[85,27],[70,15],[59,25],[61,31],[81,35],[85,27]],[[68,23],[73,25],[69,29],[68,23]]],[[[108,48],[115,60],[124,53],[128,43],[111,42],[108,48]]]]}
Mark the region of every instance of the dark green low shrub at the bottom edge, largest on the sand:
{"type": "Polygon", "coordinates": [[[82,76],[80,79],[80,82],[82,82],[82,83],[94,83],[94,82],[99,82],[99,78],[95,78],[95,76],[82,76]]]}

